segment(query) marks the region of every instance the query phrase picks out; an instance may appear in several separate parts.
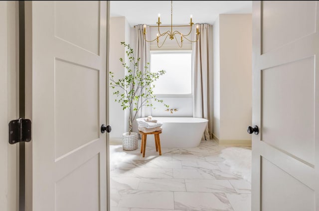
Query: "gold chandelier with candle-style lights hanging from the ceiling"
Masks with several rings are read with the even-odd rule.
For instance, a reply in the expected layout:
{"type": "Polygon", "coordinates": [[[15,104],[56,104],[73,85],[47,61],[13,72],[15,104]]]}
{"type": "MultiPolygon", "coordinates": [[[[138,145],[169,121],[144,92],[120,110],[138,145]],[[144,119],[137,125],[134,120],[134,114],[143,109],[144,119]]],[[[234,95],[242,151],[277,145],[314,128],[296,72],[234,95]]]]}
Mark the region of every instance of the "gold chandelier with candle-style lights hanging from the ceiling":
{"type": "Polygon", "coordinates": [[[169,37],[169,39],[173,40],[175,38],[177,44],[179,47],[182,47],[183,46],[183,38],[185,38],[186,40],[190,41],[190,42],[197,42],[198,38],[199,38],[199,31],[198,31],[198,25],[196,24],[196,40],[191,40],[189,38],[187,38],[187,36],[191,33],[191,29],[192,29],[192,26],[193,26],[193,22],[192,22],[192,15],[190,15],[190,23],[188,25],[174,25],[174,27],[190,27],[190,30],[187,34],[182,34],[181,32],[179,31],[173,31],[173,1],[171,0],[170,1],[170,30],[166,31],[166,32],[163,32],[163,33],[160,33],[160,27],[167,27],[169,25],[160,25],[161,22],[160,22],[160,14],[159,14],[159,20],[157,22],[157,25],[151,25],[150,27],[158,27],[158,34],[157,34],[157,37],[153,40],[147,40],[146,39],[146,24],[144,24],[144,31],[143,31],[143,34],[144,34],[144,39],[145,41],[147,42],[154,42],[155,40],[157,41],[158,43],[158,47],[160,48],[161,46],[163,46],[163,44],[165,43],[167,37],[169,37]],[[179,40],[180,40],[180,43],[178,42],[178,39],[176,37],[176,34],[179,34],[179,40]],[[163,43],[159,44],[159,38],[162,37],[162,36],[165,36],[165,39],[163,41],[163,43]]]}

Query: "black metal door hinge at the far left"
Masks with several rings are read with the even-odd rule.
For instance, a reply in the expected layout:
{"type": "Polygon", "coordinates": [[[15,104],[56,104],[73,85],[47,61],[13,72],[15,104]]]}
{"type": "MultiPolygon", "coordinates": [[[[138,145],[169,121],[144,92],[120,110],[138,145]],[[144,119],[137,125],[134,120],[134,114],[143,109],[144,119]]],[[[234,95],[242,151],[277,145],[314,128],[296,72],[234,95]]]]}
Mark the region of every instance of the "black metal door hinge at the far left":
{"type": "Polygon", "coordinates": [[[31,120],[16,119],[9,122],[9,144],[31,141],[31,120]]]}

